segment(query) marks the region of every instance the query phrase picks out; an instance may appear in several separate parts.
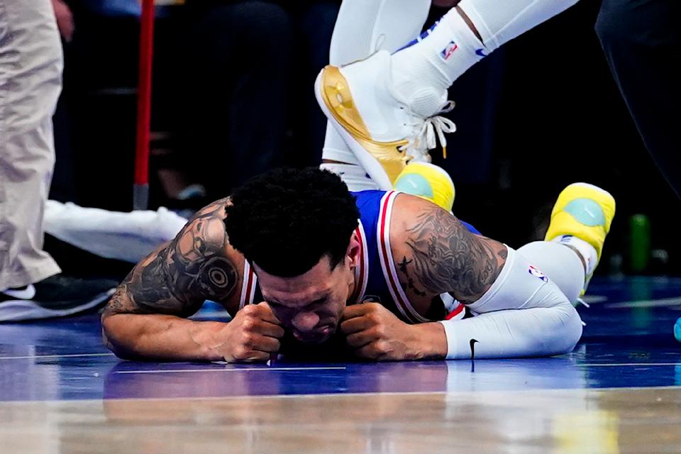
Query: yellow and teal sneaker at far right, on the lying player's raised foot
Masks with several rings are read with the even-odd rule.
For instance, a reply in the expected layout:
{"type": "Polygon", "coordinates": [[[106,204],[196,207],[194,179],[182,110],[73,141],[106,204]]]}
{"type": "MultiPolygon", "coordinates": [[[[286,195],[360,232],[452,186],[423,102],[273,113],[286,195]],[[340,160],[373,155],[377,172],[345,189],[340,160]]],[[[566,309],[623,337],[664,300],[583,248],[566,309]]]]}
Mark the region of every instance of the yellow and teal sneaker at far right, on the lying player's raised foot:
{"type": "MultiPolygon", "coordinates": [[[[570,184],[560,192],[553,206],[545,240],[555,241],[560,237],[561,243],[570,245],[569,237],[572,236],[589,243],[596,250],[596,263],[586,264],[587,276],[582,295],[601,259],[603,243],[614,216],[614,197],[606,190],[587,183],[570,184]]],[[[588,261],[589,257],[585,260],[588,261]]]]}

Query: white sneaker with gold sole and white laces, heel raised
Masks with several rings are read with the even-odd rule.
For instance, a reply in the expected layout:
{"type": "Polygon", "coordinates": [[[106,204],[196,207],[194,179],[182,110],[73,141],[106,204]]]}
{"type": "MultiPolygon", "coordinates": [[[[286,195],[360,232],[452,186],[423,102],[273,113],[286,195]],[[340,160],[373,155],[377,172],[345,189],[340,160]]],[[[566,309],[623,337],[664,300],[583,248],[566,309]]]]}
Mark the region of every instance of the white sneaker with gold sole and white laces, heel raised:
{"type": "Polygon", "coordinates": [[[423,87],[407,99],[392,81],[391,55],[381,50],[343,67],[327,66],[315,82],[321,110],[341,134],[372,180],[393,189],[407,162],[429,162],[436,138],[456,127],[438,116],[451,110],[447,92],[423,87]]]}

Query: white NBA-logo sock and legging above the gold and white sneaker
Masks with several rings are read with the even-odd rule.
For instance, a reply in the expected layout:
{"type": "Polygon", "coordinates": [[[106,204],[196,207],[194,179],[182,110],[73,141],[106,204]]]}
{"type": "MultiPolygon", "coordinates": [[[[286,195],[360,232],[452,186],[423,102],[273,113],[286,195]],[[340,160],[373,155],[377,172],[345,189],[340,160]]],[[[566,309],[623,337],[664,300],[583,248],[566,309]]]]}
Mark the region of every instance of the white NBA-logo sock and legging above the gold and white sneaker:
{"type": "Polygon", "coordinates": [[[393,78],[398,92],[411,99],[423,87],[448,89],[468,68],[500,45],[577,3],[577,0],[461,0],[482,42],[451,9],[431,33],[395,53],[393,78]]]}

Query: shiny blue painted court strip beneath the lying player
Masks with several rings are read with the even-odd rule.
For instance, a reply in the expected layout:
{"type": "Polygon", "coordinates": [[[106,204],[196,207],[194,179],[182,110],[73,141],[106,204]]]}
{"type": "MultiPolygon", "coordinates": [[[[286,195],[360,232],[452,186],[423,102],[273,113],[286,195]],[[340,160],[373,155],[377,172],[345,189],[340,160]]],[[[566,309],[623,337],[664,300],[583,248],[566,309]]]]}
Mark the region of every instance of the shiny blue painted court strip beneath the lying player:
{"type": "MultiPolygon", "coordinates": [[[[681,387],[681,343],[673,335],[681,304],[671,300],[681,295],[681,279],[594,279],[589,293],[591,308],[578,309],[587,326],[574,352],[476,360],[475,372],[468,360],[128,362],[101,344],[96,314],[0,324],[0,401],[681,387]]],[[[215,305],[199,314],[221,316],[215,305]]]]}

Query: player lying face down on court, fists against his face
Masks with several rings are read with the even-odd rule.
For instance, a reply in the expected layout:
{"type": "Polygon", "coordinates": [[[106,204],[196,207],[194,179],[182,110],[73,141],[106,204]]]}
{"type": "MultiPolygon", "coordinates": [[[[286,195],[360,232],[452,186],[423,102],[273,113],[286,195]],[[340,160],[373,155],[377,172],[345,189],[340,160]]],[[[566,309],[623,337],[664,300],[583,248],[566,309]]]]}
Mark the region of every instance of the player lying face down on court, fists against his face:
{"type": "Polygon", "coordinates": [[[305,344],[358,358],[556,355],[614,199],[559,196],[548,237],[514,250],[420,197],[352,193],[326,170],[275,170],[206,206],[142,260],[102,315],[121,358],[263,361],[305,344]],[[192,321],[209,299],[233,316],[192,321]],[[331,348],[331,347],[330,347],[331,348]]]}

